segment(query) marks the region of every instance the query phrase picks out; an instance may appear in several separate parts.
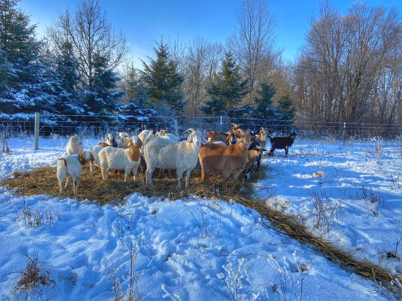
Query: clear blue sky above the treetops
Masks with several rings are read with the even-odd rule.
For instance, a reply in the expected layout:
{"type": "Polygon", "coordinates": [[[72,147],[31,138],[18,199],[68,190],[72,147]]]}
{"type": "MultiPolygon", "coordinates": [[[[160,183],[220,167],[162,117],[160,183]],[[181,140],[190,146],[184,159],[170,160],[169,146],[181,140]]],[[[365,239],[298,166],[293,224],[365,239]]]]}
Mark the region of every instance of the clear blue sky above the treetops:
{"type": "MultiPolygon", "coordinates": [[[[122,28],[131,45],[130,56],[139,67],[139,58],[153,56],[152,40],[179,39],[188,42],[197,34],[208,41],[222,41],[230,35],[235,24],[234,12],[240,0],[104,0],[109,20],[116,28],[122,28]]],[[[341,13],[353,1],[334,0],[341,13]]],[[[370,4],[396,5],[399,1],[373,0],[370,4]]],[[[37,33],[43,36],[45,25],[57,17],[57,12],[66,5],[76,6],[76,0],[22,0],[21,7],[31,12],[31,20],[39,23],[37,33]]],[[[318,10],[317,1],[271,0],[271,10],[277,15],[278,45],[285,47],[284,56],[292,59],[297,48],[304,42],[308,17],[312,10],[318,10]]]]}

